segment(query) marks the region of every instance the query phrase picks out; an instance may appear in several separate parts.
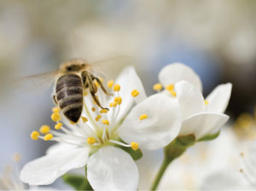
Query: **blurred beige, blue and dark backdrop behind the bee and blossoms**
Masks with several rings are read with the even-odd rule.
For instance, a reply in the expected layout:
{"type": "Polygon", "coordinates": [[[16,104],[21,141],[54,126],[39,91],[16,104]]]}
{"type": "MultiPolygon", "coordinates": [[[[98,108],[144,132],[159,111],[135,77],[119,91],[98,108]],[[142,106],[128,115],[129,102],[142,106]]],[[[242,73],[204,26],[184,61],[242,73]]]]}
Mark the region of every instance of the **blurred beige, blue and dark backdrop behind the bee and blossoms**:
{"type": "Polygon", "coordinates": [[[200,75],[205,96],[217,84],[233,84],[230,124],[253,113],[255,10],[253,0],[0,0],[0,170],[14,153],[20,165],[43,155],[49,142],[29,135],[52,124],[52,88],[16,90],[10,82],[72,58],[130,55],[148,95],[160,69],[180,61],[200,75]]]}

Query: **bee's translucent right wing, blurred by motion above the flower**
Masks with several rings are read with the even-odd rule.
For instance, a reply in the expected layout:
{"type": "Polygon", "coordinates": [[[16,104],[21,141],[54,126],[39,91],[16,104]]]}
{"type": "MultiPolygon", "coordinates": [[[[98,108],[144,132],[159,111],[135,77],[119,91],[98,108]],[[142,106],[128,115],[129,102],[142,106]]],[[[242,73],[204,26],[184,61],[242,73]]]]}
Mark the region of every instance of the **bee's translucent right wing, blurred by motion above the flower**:
{"type": "Polygon", "coordinates": [[[116,78],[125,67],[135,66],[136,60],[131,56],[117,56],[104,61],[90,63],[91,72],[102,78],[116,78]]]}

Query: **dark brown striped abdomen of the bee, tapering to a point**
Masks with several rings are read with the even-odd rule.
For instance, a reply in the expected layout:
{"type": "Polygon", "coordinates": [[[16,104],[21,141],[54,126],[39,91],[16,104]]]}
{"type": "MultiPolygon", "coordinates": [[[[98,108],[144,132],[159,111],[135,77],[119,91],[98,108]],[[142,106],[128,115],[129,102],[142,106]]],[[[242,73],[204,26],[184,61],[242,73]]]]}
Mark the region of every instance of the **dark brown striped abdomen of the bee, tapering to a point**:
{"type": "Polygon", "coordinates": [[[57,80],[55,97],[67,119],[77,122],[83,110],[83,86],[79,75],[67,74],[57,80]]]}

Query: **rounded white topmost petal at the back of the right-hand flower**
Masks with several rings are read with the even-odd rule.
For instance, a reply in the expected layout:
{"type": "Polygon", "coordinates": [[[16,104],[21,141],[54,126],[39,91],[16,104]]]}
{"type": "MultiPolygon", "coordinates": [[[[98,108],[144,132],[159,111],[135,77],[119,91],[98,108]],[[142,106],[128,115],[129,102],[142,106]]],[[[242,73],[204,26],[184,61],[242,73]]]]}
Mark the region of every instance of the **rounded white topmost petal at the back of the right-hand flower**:
{"type": "Polygon", "coordinates": [[[192,68],[187,67],[182,63],[172,63],[162,68],[159,73],[159,81],[165,87],[169,84],[176,84],[179,81],[186,80],[194,84],[195,87],[202,91],[201,79],[192,70],[192,68]]]}

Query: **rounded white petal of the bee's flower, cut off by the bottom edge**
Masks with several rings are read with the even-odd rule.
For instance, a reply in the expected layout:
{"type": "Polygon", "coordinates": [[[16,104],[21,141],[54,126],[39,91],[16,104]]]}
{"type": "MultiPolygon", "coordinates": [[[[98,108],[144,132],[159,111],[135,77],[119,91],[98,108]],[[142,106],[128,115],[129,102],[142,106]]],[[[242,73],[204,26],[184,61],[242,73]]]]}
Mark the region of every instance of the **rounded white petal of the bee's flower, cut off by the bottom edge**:
{"type": "Polygon", "coordinates": [[[137,165],[120,148],[104,147],[91,155],[87,177],[95,190],[137,190],[137,165]]]}

